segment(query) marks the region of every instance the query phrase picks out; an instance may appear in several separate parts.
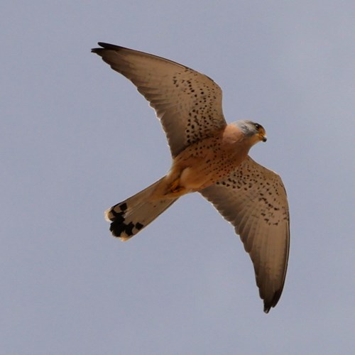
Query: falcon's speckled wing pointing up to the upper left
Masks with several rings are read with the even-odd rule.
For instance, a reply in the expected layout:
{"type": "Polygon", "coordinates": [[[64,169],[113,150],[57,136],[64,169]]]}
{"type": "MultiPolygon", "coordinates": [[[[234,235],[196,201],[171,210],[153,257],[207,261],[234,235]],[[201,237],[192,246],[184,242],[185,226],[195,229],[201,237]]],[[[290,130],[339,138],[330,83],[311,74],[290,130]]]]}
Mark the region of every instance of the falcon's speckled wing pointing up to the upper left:
{"type": "Polygon", "coordinates": [[[151,103],[175,157],[186,146],[226,125],[222,90],[206,75],[148,53],[107,43],[92,49],[127,77],[151,103]]]}

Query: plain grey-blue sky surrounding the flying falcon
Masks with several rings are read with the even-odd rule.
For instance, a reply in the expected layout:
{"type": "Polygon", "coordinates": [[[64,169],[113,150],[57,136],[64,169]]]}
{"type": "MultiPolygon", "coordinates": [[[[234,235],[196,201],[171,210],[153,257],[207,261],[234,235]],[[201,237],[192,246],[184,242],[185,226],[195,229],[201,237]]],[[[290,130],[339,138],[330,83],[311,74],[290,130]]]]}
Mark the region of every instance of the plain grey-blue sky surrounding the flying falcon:
{"type": "Polygon", "coordinates": [[[0,354],[350,354],[355,2],[2,1],[0,354]],[[268,315],[239,237],[200,195],[127,243],[103,212],[170,153],[98,41],[212,77],[283,178],[285,289],[268,315]]]}

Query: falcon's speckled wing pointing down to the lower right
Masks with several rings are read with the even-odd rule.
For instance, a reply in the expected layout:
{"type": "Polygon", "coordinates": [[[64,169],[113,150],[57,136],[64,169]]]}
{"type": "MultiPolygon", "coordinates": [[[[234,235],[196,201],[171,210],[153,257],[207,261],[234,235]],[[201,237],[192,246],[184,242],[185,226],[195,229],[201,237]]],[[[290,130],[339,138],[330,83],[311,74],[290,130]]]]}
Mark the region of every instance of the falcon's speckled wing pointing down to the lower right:
{"type": "Polygon", "coordinates": [[[283,291],[290,246],[288,200],[280,176],[248,157],[201,193],[241,236],[268,312],[283,291]]]}

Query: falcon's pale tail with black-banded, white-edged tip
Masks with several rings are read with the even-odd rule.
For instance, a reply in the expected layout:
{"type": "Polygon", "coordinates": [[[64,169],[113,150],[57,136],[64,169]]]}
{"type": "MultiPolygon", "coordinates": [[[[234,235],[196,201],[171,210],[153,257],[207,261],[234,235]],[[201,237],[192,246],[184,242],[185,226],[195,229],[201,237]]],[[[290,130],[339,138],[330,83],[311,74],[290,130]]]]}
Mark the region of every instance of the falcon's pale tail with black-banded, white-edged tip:
{"type": "Polygon", "coordinates": [[[122,241],[130,239],[178,200],[178,197],[149,200],[163,179],[161,178],[138,194],[107,209],[105,218],[111,221],[110,231],[114,236],[121,238],[122,241]]]}

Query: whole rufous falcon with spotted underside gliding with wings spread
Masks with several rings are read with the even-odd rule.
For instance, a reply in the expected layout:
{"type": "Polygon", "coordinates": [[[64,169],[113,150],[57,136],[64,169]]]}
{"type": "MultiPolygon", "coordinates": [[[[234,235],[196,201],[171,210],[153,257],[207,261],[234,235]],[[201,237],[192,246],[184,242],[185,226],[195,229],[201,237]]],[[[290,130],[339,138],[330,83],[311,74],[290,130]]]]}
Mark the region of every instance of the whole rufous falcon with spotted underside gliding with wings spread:
{"type": "Polygon", "coordinates": [[[222,89],[178,62],[109,43],[92,53],[124,75],[155,110],[168,139],[168,173],[107,209],[111,233],[127,241],[180,197],[199,192],[239,234],[253,263],[268,313],[283,292],[290,249],[288,197],[280,175],[256,163],[249,150],[266,142],[261,124],[227,124],[222,89]]]}

